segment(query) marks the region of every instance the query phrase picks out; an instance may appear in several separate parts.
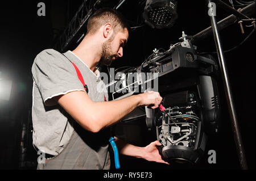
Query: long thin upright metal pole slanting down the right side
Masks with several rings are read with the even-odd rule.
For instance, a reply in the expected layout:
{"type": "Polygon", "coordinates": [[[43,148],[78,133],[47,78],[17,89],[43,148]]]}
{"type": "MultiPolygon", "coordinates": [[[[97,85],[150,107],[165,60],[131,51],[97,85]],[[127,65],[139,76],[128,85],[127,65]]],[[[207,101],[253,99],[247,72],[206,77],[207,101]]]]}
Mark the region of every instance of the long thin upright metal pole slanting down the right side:
{"type": "MultiPolygon", "coordinates": [[[[212,6],[210,6],[210,5],[212,5],[212,0],[207,0],[207,1],[208,1],[209,10],[212,10],[212,6]]],[[[247,169],[245,151],[243,149],[242,137],[241,137],[241,133],[240,133],[240,128],[238,126],[238,120],[237,120],[237,115],[236,115],[236,108],[234,106],[232,90],[230,89],[228,69],[226,68],[224,53],[222,51],[221,39],[220,39],[220,35],[218,33],[215,16],[214,15],[209,15],[209,16],[210,16],[210,23],[212,24],[214,41],[215,41],[216,49],[217,49],[217,53],[218,53],[218,61],[220,64],[221,75],[222,75],[222,79],[223,79],[223,83],[224,83],[226,102],[228,104],[229,115],[230,115],[230,119],[232,122],[234,142],[236,144],[236,148],[237,148],[237,152],[238,152],[238,159],[240,162],[241,169],[245,170],[245,169],[247,169]]]]}

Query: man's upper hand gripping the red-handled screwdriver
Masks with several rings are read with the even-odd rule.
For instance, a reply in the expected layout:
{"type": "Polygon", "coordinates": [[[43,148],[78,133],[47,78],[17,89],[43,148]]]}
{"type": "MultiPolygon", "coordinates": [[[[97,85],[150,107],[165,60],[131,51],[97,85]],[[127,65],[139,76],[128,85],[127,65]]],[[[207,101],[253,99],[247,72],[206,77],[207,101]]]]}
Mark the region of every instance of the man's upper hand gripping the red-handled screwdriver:
{"type": "Polygon", "coordinates": [[[149,106],[152,109],[158,108],[163,99],[159,92],[154,91],[148,91],[143,94],[138,94],[137,96],[141,98],[139,106],[149,106]]]}

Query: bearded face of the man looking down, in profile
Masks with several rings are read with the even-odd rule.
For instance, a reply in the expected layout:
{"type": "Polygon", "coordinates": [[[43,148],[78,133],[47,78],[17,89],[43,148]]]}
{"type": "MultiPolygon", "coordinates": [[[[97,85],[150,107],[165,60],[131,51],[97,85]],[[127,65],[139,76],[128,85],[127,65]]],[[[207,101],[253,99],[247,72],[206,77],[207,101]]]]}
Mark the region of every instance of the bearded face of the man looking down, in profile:
{"type": "Polygon", "coordinates": [[[115,36],[113,34],[102,45],[101,64],[109,66],[115,59],[123,56],[123,47],[127,42],[128,34],[128,30],[125,28],[123,32],[118,32],[115,36]]]}

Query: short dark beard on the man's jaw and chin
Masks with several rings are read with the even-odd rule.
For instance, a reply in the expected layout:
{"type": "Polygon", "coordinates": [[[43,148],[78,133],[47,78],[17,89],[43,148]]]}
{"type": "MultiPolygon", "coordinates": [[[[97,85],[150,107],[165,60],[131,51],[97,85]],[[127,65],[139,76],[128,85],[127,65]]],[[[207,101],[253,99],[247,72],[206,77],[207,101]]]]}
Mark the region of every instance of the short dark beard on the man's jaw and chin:
{"type": "Polygon", "coordinates": [[[113,62],[113,57],[118,57],[118,54],[113,54],[110,50],[111,47],[111,42],[113,40],[108,40],[105,43],[103,43],[102,45],[102,55],[101,55],[101,60],[100,60],[100,64],[109,66],[112,64],[113,62]]]}

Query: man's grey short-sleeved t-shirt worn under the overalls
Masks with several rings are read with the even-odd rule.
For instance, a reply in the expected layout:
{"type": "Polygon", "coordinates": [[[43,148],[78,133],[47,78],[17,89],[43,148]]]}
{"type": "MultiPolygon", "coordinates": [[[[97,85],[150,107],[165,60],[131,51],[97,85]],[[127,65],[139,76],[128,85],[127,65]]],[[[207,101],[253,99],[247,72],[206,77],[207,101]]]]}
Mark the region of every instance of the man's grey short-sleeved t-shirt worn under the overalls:
{"type": "MultiPolygon", "coordinates": [[[[93,73],[71,51],[64,54],[79,68],[88,86],[90,99],[94,102],[103,102],[105,95],[108,100],[105,84],[100,79],[100,72],[93,73]]],[[[39,150],[52,155],[57,155],[63,150],[74,130],[68,121],[67,112],[52,98],[72,91],[85,91],[75,68],[65,56],[53,49],[43,50],[36,56],[31,69],[34,79],[32,91],[33,144],[39,150]]]]}

